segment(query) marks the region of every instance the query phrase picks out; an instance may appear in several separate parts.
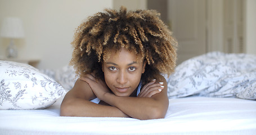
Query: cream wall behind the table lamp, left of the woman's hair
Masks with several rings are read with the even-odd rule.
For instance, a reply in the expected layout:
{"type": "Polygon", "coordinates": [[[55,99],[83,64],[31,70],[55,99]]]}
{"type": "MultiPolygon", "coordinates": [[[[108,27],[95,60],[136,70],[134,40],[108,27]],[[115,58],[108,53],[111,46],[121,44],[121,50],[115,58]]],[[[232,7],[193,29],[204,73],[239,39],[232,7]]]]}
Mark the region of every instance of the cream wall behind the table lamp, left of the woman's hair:
{"type": "MultiPolygon", "coordinates": [[[[15,40],[19,57],[40,59],[39,69],[58,69],[69,64],[70,42],[80,22],[112,7],[112,0],[0,0],[0,24],[5,17],[20,17],[25,38],[15,40]]],[[[9,41],[0,38],[0,57],[9,41]]]]}

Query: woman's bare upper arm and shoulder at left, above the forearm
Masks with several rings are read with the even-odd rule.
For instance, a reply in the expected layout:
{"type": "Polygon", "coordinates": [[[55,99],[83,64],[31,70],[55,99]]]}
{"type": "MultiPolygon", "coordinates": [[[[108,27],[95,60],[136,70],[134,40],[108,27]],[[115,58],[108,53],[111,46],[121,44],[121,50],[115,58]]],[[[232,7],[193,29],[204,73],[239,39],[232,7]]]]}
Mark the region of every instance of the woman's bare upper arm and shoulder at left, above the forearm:
{"type": "Polygon", "coordinates": [[[74,87],[66,94],[65,98],[82,98],[84,100],[92,100],[93,98],[96,98],[96,96],[92,92],[89,84],[78,78],[74,87]]]}

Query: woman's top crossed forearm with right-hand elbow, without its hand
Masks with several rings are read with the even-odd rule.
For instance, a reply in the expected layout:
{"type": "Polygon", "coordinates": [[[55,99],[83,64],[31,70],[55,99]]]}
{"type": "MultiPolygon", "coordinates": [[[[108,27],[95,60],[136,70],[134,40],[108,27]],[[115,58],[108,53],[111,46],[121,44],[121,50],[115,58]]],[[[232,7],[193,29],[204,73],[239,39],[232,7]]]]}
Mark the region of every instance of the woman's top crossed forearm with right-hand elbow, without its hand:
{"type": "MultiPolygon", "coordinates": [[[[159,78],[160,79],[160,78],[159,78]]],[[[159,80],[158,79],[158,80],[159,80]]],[[[164,82],[164,89],[152,97],[118,97],[107,93],[104,97],[105,102],[118,107],[121,111],[137,119],[159,119],[164,118],[169,100],[167,97],[167,82],[161,78],[160,82],[164,82]]],[[[155,89],[158,91],[158,89],[155,89]]]]}

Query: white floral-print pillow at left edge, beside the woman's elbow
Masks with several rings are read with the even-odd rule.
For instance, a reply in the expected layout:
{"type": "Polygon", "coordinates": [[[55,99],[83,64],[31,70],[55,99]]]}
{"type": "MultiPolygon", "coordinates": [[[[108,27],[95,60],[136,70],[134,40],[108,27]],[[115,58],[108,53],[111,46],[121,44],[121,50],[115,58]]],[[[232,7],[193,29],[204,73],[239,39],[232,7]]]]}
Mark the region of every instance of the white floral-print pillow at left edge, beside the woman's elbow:
{"type": "Polygon", "coordinates": [[[65,93],[59,83],[33,66],[0,61],[0,110],[44,109],[65,93]]]}

